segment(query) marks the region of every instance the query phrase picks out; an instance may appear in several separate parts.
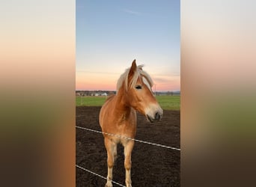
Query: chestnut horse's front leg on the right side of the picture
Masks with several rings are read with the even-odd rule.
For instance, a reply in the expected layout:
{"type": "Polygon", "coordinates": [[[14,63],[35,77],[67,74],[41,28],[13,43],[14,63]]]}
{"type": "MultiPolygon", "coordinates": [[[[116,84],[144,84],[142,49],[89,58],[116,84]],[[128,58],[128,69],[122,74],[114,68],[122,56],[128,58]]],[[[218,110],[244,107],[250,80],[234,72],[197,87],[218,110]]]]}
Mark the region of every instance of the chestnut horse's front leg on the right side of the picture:
{"type": "Polygon", "coordinates": [[[127,187],[132,187],[132,180],[131,180],[131,168],[132,168],[132,148],[134,145],[134,141],[128,141],[127,144],[124,145],[124,168],[126,171],[125,175],[125,183],[127,187]]]}

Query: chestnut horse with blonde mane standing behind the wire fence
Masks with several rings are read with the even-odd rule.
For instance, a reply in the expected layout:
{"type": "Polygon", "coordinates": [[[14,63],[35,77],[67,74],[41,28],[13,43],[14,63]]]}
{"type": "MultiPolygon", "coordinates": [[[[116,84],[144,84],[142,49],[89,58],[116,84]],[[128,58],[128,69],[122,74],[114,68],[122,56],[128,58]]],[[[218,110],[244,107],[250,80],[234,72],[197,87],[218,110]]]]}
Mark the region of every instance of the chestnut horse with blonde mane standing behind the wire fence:
{"type": "Polygon", "coordinates": [[[119,143],[124,146],[125,183],[127,187],[132,186],[130,171],[137,126],[136,111],[143,114],[150,123],[162,118],[162,108],[151,89],[153,81],[142,67],[137,67],[135,60],[132,61],[132,66],[118,79],[117,93],[109,96],[100,108],[99,122],[107,151],[106,187],[112,186],[112,170],[119,143]]]}

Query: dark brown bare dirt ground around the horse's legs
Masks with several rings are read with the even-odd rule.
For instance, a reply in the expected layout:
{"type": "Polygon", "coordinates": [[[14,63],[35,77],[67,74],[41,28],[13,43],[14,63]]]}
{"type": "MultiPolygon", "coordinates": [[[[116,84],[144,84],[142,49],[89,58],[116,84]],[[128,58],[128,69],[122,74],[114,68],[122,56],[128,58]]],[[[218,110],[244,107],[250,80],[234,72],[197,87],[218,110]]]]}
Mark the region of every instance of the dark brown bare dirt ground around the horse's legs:
{"type": "MultiPolygon", "coordinates": [[[[100,107],[76,107],[76,126],[101,131],[100,107]]],[[[164,111],[162,121],[149,123],[137,113],[135,139],[180,148],[180,111],[164,111]]],[[[76,165],[107,176],[107,155],[103,135],[76,128],[76,165]]],[[[180,151],[135,141],[132,150],[132,186],[180,186],[180,151]]],[[[118,145],[113,180],[125,186],[124,148],[118,145]]],[[[76,168],[77,187],[105,186],[106,180],[76,168]]],[[[113,183],[113,186],[118,186],[113,183]]]]}

